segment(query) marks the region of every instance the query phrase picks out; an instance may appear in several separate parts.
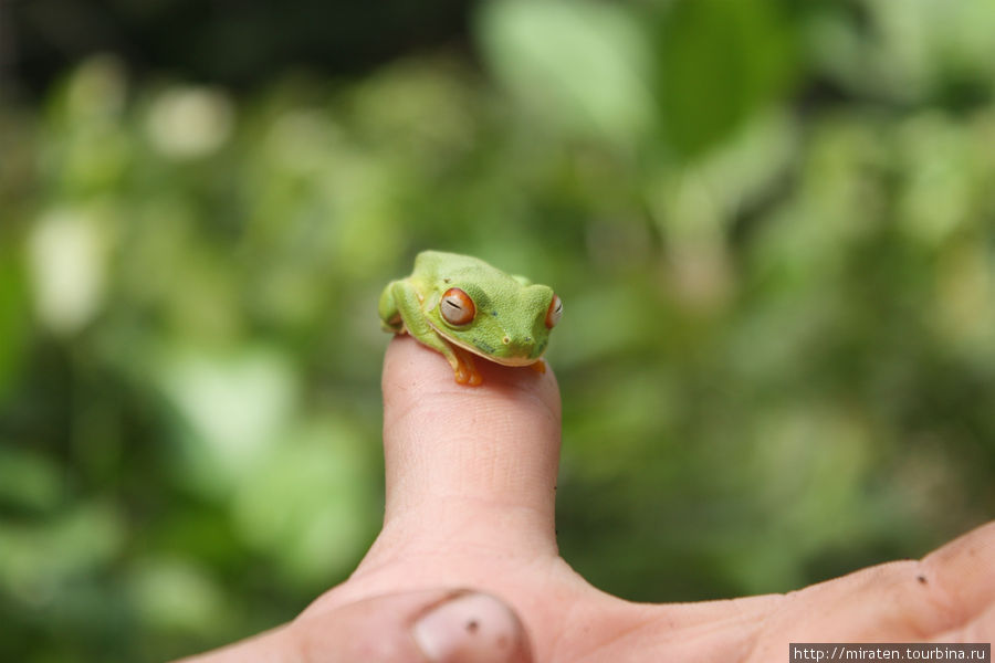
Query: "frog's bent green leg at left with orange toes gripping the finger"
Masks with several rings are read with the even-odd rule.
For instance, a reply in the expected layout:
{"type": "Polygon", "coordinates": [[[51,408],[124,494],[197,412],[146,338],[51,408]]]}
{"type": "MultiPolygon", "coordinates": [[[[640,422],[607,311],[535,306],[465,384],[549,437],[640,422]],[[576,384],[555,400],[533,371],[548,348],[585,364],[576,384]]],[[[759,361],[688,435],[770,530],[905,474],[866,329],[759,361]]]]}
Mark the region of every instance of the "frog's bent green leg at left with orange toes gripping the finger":
{"type": "Polygon", "coordinates": [[[476,387],[483,379],[473,365],[470,352],[448,344],[432,328],[421,308],[421,295],[407,281],[392,281],[380,295],[380,320],[384,328],[396,334],[407,332],[419,343],[440,352],[449,361],[460,385],[476,387]]]}

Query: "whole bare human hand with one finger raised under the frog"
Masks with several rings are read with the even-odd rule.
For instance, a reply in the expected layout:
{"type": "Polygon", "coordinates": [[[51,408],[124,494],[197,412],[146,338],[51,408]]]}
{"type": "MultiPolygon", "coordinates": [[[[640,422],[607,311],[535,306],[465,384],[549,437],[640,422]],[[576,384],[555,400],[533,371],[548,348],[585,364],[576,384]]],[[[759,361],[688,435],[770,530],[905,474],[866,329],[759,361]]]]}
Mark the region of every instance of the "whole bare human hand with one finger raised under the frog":
{"type": "Polygon", "coordinates": [[[437,352],[390,343],[373,547],[294,621],[190,661],[746,663],[785,660],[789,642],[993,640],[995,523],[786,594],[650,604],[591,587],[556,547],[556,378],[480,364],[483,386],[461,387],[437,352]],[[440,606],[460,628],[421,629],[440,606]]]}

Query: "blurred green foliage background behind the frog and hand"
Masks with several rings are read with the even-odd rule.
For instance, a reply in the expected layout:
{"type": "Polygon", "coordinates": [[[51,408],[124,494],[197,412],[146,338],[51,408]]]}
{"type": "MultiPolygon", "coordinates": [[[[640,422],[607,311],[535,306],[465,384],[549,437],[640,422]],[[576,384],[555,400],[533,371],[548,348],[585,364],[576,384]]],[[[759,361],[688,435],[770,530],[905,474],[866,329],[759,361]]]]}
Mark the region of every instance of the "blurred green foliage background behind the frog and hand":
{"type": "Polygon", "coordinates": [[[564,557],[786,591],[995,515],[995,0],[0,0],[0,659],[293,618],[376,302],[553,285],[564,557]]]}

